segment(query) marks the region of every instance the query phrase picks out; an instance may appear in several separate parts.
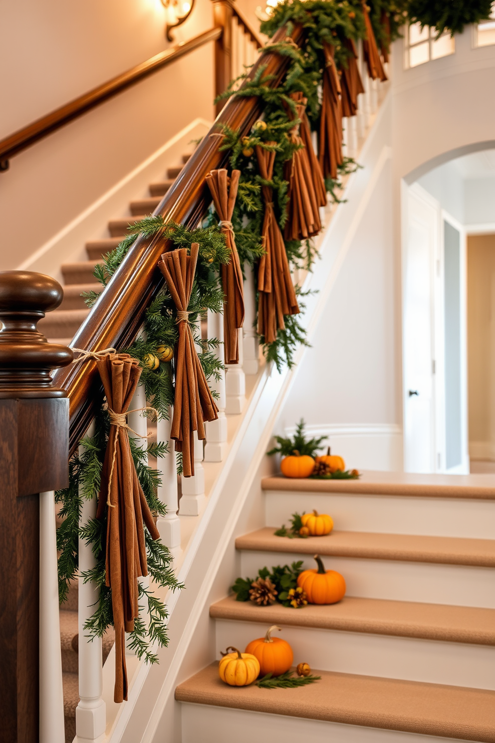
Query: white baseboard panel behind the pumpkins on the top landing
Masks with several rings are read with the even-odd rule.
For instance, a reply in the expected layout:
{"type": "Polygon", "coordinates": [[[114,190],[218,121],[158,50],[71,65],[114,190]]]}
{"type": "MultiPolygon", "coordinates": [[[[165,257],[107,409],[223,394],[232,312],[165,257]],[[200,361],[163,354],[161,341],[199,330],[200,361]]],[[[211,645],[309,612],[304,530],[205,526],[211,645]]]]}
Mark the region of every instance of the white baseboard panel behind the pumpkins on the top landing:
{"type": "MultiPolygon", "coordinates": [[[[286,428],[293,435],[295,426],[286,428]]],[[[402,470],[402,429],[396,424],[327,424],[306,426],[309,436],[327,436],[324,446],[357,470],[402,470]]]]}

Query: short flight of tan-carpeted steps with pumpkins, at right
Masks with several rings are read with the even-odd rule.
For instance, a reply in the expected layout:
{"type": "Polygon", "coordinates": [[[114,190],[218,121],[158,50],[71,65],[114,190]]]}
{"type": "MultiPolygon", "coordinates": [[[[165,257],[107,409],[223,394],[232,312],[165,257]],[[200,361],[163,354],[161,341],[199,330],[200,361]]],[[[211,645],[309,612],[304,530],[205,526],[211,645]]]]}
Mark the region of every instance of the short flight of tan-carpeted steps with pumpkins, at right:
{"type": "Polygon", "coordinates": [[[295,663],[322,678],[297,690],[228,687],[215,661],[177,686],[182,743],[226,743],[233,729],[237,743],[494,742],[495,478],[269,477],[261,488],[264,525],[237,536],[237,575],[296,559],[312,568],[318,553],[344,575],[347,594],[304,609],[217,600],[215,657],[275,623],[295,663]],[[313,508],[333,517],[330,535],[274,535],[295,510],[313,508]]]}

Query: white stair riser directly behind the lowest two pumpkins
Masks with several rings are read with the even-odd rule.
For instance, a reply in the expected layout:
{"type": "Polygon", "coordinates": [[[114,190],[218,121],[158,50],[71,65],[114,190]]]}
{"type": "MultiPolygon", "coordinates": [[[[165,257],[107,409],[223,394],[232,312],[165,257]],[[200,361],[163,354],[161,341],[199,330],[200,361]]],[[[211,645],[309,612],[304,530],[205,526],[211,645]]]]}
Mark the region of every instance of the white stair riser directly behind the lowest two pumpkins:
{"type": "MultiPolygon", "coordinates": [[[[294,609],[295,614],[304,609],[294,609]]],[[[260,614],[263,608],[260,607],[260,614]]],[[[244,649],[263,637],[267,625],[216,620],[217,658],[228,646],[244,649]]],[[[495,690],[495,647],[365,635],[311,627],[283,626],[275,633],[290,643],[294,665],[309,663],[322,671],[356,673],[430,684],[495,690]]]]}

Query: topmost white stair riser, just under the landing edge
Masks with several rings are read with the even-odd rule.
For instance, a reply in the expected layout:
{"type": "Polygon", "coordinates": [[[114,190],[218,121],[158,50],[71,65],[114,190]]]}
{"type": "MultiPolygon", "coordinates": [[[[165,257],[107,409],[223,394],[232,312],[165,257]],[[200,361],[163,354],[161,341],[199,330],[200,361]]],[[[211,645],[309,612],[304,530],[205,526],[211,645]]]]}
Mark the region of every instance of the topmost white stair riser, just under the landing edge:
{"type": "Polygon", "coordinates": [[[338,531],[495,539],[495,501],[339,493],[265,493],[265,525],[289,525],[292,513],[329,513],[338,531]]]}

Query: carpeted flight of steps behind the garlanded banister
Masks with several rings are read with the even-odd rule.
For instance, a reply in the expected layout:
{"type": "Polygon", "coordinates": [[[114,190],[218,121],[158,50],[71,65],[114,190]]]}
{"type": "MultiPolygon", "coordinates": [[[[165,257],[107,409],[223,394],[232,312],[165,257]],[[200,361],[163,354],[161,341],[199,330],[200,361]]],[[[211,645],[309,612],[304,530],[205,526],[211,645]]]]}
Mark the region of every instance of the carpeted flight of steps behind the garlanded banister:
{"type": "MultiPolygon", "coordinates": [[[[190,155],[183,155],[183,163],[189,160],[190,155]]],[[[166,178],[149,186],[150,198],[131,201],[128,218],[113,219],[108,222],[110,237],[89,241],[85,245],[88,254],[87,261],[66,263],[62,265],[64,276],[64,299],[60,307],[39,322],[39,328],[50,341],[71,345],[79,325],[88,315],[88,308],[81,296],[82,292],[102,290],[101,284],[95,282],[93,271],[97,263],[102,262],[102,256],[109,250],[114,250],[127,234],[128,224],[151,214],[163,195],[168,191],[174,179],[179,175],[182,166],[170,167],[166,171],[166,178]]],[[[76,735],[76,707],[79,702],[78,689],[78,582],[74,580],[68,594],[68,600],[60,607],[60,642],[62,647],[62,673],[64,687],[64,716],[65,740],[71,743],[76,735]]],[[[105,633],[102,640],[102,657],[105,663],[108,653],[114,644],[114,631],[105,633]]]]}

